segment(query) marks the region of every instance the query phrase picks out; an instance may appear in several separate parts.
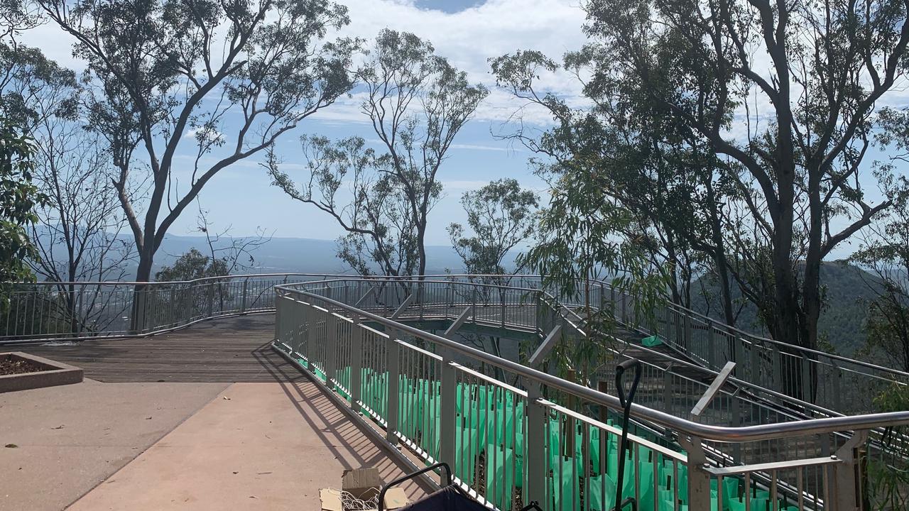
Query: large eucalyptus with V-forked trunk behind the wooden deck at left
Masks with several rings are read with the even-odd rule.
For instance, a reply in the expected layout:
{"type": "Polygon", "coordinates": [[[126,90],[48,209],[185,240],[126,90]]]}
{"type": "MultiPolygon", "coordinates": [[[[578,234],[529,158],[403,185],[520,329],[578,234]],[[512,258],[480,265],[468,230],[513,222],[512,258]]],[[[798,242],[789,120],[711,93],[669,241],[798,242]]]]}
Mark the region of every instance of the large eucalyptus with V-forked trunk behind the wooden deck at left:
{"type": "Polygon", "coordinates": [[[140,282],[215,175],[352,85],[355,41],[323,42],[348,22],[346,9],[327,1],[37,3],[87,63],[89,128],[108,145],[140,282]]]}

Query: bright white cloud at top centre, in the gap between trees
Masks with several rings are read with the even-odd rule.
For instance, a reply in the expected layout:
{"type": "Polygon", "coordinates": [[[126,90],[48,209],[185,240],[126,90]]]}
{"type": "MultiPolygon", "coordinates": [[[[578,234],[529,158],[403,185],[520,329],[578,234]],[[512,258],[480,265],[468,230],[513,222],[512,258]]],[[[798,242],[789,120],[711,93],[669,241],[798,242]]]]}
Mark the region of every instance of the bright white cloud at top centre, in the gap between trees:
{"type": "MultiPolygon", "coordinates": [[[[488,0],[458,13],[420,9],[412,1],[342,0],[351,24],[339,35],[371,41],[385,27],[413,32],[430,41],[436,54],[445,56],[474,83],[490,89],[477,108],[474,121],[509,122],[515,113],[524,123],[548,125],[552,117],[543,108],[526,105],[495,86],[488,59],[517,50],[539,50],[558,61],[565,52],[584,45],[584,11],[577,0],[488,0]]],[[[542,90],[553,91],[571,104],[581,101],[581,85],[574,76],[558,72],[540,76],[542,90]]],[[[359,101],[343,101],[315,118],[335,122],[362,122],[359,101]]]]}

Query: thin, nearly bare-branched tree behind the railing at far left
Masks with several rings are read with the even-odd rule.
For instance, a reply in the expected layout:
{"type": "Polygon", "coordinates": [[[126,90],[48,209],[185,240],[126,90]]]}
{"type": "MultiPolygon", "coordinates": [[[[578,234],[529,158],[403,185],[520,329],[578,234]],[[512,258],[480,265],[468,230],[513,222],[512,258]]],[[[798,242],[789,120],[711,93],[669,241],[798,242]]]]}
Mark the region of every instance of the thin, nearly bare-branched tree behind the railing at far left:
{"type": "MultiPolygon", "coordinates": [[[[103,141],[85,130],[75,73],[23,45],[0,48],[0,66],[0,111],[35,139],[34,183],[46,196],[31,227],[35,273],[55,282],[122,280],[134,249],[120,237],[125,216],[112,165],[103,141]]],[[[72,286],[60,291],[72,312],[72,286]]]]}

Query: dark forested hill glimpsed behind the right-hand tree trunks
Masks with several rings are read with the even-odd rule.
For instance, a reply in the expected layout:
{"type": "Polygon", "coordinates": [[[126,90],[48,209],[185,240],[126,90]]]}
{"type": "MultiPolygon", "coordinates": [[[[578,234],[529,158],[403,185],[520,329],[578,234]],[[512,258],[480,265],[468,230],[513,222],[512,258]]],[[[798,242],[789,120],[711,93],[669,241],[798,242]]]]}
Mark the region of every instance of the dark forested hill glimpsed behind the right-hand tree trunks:
{"type": "MultiPolygon", "coordinates": [[[[864,322],[866,318],[865,306],[860,303],[862,299],[871,299],[874,293],[865,282],[874,283],[876,277],[863,269],[835,261],[824,263],[821,266],[821,286],[824,289],[824,309],[818,320],[818,331],[827,342],[834,347],[837,354],[852,356],[855,350],[864,346],[864,322]]],[[[719,288],[713,283],[705,283],[708,292],[717,296],[719,288]]],[[[700,289],[700,284],[695,283],[694,289],[700,289]]],[[[694,292],[693,292],[694,294],[694,292]]],[[[735,287],[734,299],[741,299],[741,291],[735,287]]],[[[693,298],[692,308],[707,314],[707,304],[703,296],[693,298]]],[[[709,316],[722,320],[722,313],[718,302],[711,300],[709,316]]],[[[766,329],[757,319],[757,310],[752,305],[744,306],[738,316],[736,326],[746,332],[767,336],[766,329]]]]}

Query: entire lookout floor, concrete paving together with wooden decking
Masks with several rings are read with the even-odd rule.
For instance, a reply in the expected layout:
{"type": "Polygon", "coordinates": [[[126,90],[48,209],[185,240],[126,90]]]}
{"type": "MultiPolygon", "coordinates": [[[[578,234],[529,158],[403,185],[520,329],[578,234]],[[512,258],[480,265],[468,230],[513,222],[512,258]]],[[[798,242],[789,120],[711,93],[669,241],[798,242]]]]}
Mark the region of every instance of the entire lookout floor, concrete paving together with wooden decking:
{"type": "Polygon", "coordinates": [[[16,348],[85,382],[0,394],[0,510],[317,509],[345,468],[409,472],[275,354],[273,323],[16,348]]]}

